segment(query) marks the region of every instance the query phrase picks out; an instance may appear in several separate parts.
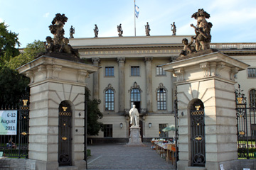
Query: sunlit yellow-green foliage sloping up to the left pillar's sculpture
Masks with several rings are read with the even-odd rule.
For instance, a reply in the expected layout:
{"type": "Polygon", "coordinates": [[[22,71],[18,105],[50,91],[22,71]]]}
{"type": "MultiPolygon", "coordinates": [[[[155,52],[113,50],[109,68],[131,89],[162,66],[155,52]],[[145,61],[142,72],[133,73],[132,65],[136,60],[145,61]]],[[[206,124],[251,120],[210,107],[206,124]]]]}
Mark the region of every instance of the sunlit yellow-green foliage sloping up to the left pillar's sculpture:
{"type": "Polygon", "coordinates": [[[9,62],[6,63],[6,66],[11,69],[17,69],[21,67],[23,64],[31,62],[34,60],[34,57],[38,55],[40,52],[44,52],[44,42],[40,40],[35,40],[32,43],[29,43],[26,48],[24,48],[23,52],[17,57],[11,58],[9,62]]]}

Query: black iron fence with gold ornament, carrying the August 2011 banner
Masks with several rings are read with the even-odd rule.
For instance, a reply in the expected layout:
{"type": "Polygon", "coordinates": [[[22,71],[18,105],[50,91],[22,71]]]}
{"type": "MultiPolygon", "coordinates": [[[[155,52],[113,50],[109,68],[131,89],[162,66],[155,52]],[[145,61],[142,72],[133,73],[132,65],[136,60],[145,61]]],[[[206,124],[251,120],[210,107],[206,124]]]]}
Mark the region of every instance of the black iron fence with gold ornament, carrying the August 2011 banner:
{"type": "MultiPolygon", "coordinates": [[[[16,126],[3,127],[6,130],[15,130],[16,135],[0,135],[0,153],[2,152],[4,157],[28,158],[28,96],[28,94],[23,95],[20,104],[1,103],[0,111],[14,111],[13,115],[12,112],[3,114],[9,114],[8,116],[16,117],[17,120],[16,126]]],[[[4,121],[4,118],[0,121],[4,121]]]]}

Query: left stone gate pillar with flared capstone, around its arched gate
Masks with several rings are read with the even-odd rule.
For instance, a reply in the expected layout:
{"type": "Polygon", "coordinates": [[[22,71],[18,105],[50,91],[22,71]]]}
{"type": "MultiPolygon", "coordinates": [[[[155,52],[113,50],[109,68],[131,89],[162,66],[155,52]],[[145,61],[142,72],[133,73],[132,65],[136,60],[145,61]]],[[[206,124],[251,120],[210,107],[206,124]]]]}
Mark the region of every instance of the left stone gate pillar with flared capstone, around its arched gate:
{"type": "Polygon", "coordinates": [[[90,64],[47,56],[18,68],[18,72],[31,79],[28,162],[36,169],[58,169],[61,139],[70,141],[70,169],[85,169],[85,78],[97,69],[90,64]],[[71,106],[70,137],[58,135],[59,107],[63,101],[71,106]]]}

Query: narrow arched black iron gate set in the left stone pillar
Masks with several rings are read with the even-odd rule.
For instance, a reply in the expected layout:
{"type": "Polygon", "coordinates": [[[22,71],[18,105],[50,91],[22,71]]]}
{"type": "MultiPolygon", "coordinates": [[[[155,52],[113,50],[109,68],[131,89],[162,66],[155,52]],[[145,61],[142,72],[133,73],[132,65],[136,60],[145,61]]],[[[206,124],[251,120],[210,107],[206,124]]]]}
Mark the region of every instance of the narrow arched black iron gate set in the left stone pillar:
{"type": "Polygon", "coordinates": [[[70,104],[63,101],[59,106],[58,162],[59,166],[71,165],[72,112],[70,104]]]}

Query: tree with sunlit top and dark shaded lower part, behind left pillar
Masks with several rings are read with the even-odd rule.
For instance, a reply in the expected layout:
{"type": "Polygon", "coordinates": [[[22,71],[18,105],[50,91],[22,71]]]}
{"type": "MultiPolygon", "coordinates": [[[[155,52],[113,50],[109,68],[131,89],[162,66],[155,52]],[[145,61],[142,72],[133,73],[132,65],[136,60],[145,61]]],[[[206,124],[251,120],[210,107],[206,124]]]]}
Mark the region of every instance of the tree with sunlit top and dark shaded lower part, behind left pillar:
{"type": "MultiPolygon", "coordinates": [[[[0,105],[17,104],[21,96],[28,89],[29,79],[16,71],[21,65],[31,62],[39,52],[44,50],[43,42],[34,41],[26,46],[23,53],[10,60],[4,60],[4,66],[0,68],[0,105]]],[[[0,106],[1,107],[1,106],[0,106]]]]}

